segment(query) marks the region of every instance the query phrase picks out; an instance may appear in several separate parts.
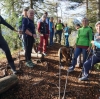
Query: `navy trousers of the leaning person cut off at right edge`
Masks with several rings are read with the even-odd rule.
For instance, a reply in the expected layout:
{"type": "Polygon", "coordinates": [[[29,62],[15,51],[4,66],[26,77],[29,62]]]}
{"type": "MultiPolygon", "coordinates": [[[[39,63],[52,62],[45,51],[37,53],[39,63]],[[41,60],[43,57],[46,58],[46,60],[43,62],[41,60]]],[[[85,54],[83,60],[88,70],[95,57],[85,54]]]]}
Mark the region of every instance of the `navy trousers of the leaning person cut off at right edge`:
{"type": "Polygon", "coordinates": [[[100,57],[97,57],[96,55],[93,55],[90,59],[88,59],[83,64],[82,75],[85,76],[85,77],[88,77],[89,70],[92,69],[92,66],[94,66],[96,63],[99,63],[99,62],[100,62],[100,57]]]}

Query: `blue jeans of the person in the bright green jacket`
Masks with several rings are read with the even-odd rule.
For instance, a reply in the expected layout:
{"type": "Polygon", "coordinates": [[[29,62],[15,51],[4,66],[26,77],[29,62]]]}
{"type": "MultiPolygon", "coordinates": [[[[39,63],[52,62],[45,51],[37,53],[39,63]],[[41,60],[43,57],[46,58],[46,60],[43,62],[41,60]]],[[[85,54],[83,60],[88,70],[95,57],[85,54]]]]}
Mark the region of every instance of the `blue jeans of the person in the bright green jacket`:
{"type": "Polygon", "coordinates": [[[75,65],[77,63],[77,57],[80,55],[80,54],[83,54],[83,63],[86,61],[86,58],[87,58],[87,50],[86,49],[83,49],[83,48],[78,48],[76,47],[75,49],[75,52],[74,52],[74,57],[72,59],[72,66],[73,66],[73,69],[75,68],[75,65]]]}

